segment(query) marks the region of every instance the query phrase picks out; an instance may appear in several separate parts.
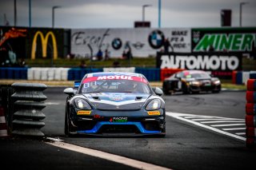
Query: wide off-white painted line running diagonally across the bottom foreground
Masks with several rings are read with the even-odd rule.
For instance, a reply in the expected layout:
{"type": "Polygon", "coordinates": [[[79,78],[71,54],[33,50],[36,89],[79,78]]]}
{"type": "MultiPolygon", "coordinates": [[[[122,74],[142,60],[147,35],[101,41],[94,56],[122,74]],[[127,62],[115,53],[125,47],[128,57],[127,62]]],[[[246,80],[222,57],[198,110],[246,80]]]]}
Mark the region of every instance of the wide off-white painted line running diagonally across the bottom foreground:
{"type": "Polygon", "coordinates": [[[74,152],[80,152],[83,154],[86,154],[88,156],[95,156],[104,160],[110,160],[113,162],[116,162],[118,164],[125,164],[127,166],[133,167],[133,168],[139,168],[139,169],[146,169],[146,170],[171,170],[170,168],[161,167],[155,164],[148,164],[146,162],[142,162],[139,160],[133,160],[130,158],[127,158],[125,156],[118,156],[107,152],[98,151],[91,148],[83,148],[81,146],[77,146],[74,144],[67,144],[62,141],[54,141],[54,142],[46,142],[46,144],[50,144],[53,146],[56,146],[58,148],[65,148],[70,151],[74,152]]]}

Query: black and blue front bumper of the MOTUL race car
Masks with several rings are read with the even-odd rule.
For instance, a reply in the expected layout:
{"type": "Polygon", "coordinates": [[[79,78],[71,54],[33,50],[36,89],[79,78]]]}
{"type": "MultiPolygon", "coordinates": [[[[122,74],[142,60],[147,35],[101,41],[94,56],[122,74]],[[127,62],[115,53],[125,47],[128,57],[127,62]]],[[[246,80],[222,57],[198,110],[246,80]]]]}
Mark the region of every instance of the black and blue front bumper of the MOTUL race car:
{"type": "Polygon", "coordinates": [[[71,114],[71,126],[73,134],[104,135],[131,134],[154,135],[165,134],[165,110],[160,109],[161,115],[142,117],[142,111],[134,112],[110,112],[92,111],[90,116],[77,116],[77,109],[71,114]],[[140,113],[140,117],[138,116],[140,113]],[[126,122],[111,122],[113,117],[126,117],[126,122]]]}

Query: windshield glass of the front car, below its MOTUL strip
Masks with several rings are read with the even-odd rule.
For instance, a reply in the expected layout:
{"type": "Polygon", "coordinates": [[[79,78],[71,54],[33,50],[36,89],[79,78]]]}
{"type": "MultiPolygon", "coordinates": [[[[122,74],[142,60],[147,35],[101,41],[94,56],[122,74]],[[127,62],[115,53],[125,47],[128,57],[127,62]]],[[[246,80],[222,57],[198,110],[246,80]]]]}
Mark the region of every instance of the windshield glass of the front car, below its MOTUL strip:
{"type": "Polygon", "coordinates": [[[147,83],[130,80],[98,80],[82,84],[81,93],[150,93],[147,83]]]}

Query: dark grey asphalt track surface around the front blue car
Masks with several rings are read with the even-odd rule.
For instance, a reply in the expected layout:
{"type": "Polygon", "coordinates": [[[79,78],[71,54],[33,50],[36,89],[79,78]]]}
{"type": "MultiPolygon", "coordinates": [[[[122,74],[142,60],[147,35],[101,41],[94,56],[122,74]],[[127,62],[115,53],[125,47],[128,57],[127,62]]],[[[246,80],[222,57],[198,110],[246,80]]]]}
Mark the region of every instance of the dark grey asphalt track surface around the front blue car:
{"type": "MultiPolygon", "coordinates": [[[[67,143],[127,156],[173,169],[254,168],[255,150],[242,141],[166,117],[166,137],[75,137],[64,136],[66,95],[63,88],[48,88],[43,109],[46,136],[67,143]]],[[[166,110],[221,117],[245,117],[245,92],[221,92],[163,96],[166,110]]],[[[122,164],[70,152],[42,140],[0,140],[1,164],[26,169],[133,169],[122,164]],[[2,158],[3,157],[3,158],[2,158]]],[[[3,166],[3,165],[2,165],[3,166]]]]}

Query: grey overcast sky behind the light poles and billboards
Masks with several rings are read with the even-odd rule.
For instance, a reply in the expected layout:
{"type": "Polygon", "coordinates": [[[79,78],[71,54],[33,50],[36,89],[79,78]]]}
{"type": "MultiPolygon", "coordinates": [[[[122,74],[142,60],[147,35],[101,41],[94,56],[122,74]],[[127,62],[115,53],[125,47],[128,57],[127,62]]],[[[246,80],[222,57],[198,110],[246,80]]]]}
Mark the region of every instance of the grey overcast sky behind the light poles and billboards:
{"type": "MultiPolygon", "coordinates": [[[[16,0],[17,26],[29,26],[29,0],[16,0]]],[[[256,26],[255,0],[162,0],[162,28],[219,27],[221,10],[232,10],[232,26],[239,26],[239,3],[242,6],[242,26],[256,26]]],[[[51,27],[52,6],[55,27],[58,28],[133,28],[134,21],[145,20],[158,27],[158,0],[31,0],[31,26],[51,27]]],[[[0,26],[4,14],[14,26],[14,0],[0,0],[0,26]]]]}

